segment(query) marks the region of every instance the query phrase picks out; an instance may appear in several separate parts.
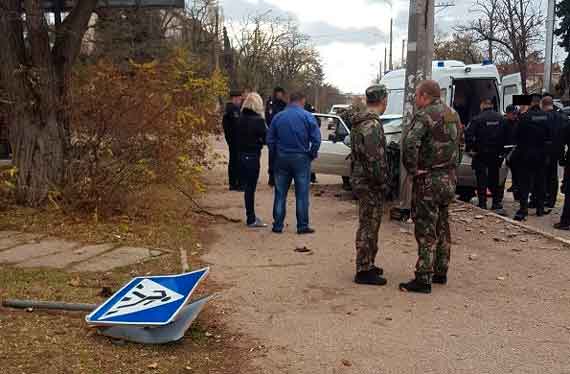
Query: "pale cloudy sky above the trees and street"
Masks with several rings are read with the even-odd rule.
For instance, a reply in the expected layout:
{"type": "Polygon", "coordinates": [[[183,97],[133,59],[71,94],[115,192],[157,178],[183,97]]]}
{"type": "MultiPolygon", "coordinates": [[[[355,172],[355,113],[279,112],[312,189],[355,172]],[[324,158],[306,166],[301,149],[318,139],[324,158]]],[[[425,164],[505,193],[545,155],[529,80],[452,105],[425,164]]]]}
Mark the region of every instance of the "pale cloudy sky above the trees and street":
{"type": "MultiPolygon", "coordinates": [[[[436,0],[436,3],[452,0],[436,0]]],[[[540,0],[537,0],[540,1],[540,0]]],[[[443,33],[476,17],[472,0],[436,9],[435,27],[443,33]]],[[[377,76],[394,19],[393,61],[398,65],[407,38],[409,0],[221,0],[224,17],[239,22],[248,14],[271,11],[291,17],[311,37],[325,68],[326,81],[344,92],[362,93],[377,76]]],[[[556,57],[556,56],[555,56],[556,57]]]]}

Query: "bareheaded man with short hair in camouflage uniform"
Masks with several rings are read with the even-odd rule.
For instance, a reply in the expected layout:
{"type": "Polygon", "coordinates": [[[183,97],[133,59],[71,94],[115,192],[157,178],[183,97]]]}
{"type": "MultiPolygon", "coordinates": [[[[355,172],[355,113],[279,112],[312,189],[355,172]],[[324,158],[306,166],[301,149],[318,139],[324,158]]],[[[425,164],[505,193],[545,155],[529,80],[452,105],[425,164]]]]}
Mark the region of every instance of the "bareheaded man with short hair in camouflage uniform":
{"type": "Polygon", "coordinates": [[[402,162],[413,176],[412,208],[418,262],[415,279],[400,290],[431,293],[447,283],[451,251],[449,205],[455,198],[456,169],[462,157],[458,114],[440,100],[440,87],[427,80],[416,90],[416,114],[403,141],[402,162]]]}

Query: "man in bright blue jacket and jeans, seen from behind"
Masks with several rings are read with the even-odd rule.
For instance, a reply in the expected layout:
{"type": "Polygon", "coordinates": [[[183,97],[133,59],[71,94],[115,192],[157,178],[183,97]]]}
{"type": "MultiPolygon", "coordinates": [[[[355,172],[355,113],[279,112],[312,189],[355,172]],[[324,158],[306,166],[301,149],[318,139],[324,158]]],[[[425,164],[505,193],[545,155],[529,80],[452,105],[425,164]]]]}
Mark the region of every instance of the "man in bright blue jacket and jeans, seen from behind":
{"type": "Polygon", "coordinates": [[[297,233],[312,234],[309,226],[309,185],[311,162],[317,158],[321,133],[316,118],[304,106],[302,93],[291,95],[290,104],[277,114],[267,133],[267,145],[275,155],[275,201],[273,203],[273,232],[282,233],[285,221],[287,193],[295,181],[297,233]]]}

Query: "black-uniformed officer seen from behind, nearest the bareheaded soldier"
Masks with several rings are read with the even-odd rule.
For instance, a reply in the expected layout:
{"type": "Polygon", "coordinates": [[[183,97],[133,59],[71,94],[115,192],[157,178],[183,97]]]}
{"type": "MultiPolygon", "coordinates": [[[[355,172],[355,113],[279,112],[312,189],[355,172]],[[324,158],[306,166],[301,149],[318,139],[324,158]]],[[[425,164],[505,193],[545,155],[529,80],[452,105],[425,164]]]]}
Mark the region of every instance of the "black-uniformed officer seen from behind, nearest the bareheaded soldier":
{"type": "Polygon", "coordinates": [[[465,132],[467,151],[473,152],[472,168],[477,177],[479,207],[487,209],[487,188],[493,196],[493,210],[503,209],[504,186],[499,171],[508,141],[508,127],[503,116],[494,110],[493,100],[481,100],[481,113],[471,120],[465,132]]]}

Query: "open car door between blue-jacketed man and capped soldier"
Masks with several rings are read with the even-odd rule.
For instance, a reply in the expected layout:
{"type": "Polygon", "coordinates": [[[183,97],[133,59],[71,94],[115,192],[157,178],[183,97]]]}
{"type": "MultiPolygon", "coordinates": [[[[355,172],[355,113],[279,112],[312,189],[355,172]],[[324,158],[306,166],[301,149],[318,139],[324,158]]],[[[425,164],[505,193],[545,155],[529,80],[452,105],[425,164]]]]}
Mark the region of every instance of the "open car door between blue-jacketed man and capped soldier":
{"type": "Polygon", "coordinates": [[[312,171],[317,174],[350,175],[350,147],[345,144],[350,134],[339,116],[315,114],[321,131],[319,157],[313,162],[312,171]]]}

